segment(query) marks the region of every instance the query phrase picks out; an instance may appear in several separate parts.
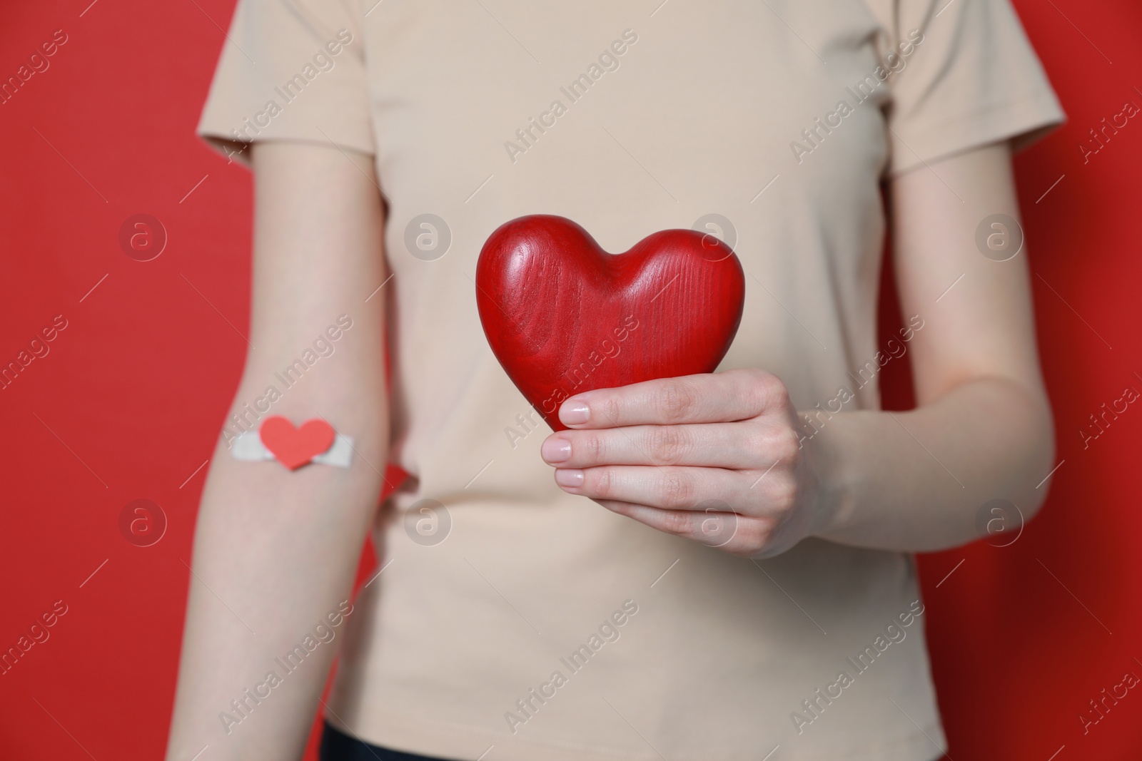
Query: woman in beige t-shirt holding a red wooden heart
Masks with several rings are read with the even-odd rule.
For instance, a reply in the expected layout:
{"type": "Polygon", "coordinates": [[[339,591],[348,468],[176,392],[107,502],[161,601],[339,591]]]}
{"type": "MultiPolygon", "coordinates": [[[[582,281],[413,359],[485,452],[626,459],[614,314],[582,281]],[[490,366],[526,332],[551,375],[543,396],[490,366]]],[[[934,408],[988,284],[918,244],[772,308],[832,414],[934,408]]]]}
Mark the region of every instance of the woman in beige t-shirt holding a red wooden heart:
{"type": "Polygon", "coordinates": [[[1006,0],[241,0],[200,131],[255,171],[251,349],[168,759],[297,758],[335,653],[327,759],[939,758],[909,553],[1043,499],[1010,152],[1061,119],[1006,0]],[[548,436],[473,282],[528,213],[723,236],[719,372],[573,396],[548,436]],[[919,406],[882,412],[906,353],[919,406]],[[235,459],[266,415],[349,467],[235,459]]]}

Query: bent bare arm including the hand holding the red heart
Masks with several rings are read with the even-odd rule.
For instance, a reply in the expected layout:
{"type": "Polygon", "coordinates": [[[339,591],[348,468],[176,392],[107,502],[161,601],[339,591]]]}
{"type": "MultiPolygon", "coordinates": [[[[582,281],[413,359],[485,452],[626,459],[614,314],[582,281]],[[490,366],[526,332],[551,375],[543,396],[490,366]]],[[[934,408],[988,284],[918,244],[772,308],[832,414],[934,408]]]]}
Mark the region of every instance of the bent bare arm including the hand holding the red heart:
{"type": "Polygon", "coordinates": [[[1027,253],[997,262],[975,245],[986,217],[1019,218],[1007,145],[908,172],[890,195],[901,302],[924,321],[910,342],[915,411],[814,415],[807,427],[764,370],[588,391],[560,408],[572,430],[544,443],[556,483],[746,556],[807,536],[954,547],[978,536],[991,499],[1030,518],[1054,447],[1027,253]]]}

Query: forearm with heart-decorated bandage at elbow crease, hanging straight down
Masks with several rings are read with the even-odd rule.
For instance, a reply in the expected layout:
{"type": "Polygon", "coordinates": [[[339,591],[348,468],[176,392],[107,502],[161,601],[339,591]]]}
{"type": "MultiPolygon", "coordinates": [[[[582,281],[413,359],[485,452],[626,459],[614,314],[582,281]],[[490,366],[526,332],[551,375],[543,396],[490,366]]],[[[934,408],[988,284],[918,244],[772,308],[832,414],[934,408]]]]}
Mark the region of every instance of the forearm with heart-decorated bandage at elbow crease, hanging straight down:
{"type": "MultiPolygon", "coordinates": [[[[239,403],[243,392],[264,389],[243,388],[239,403]]],[[[234,460],[225,445],[215,453],[195,532],[171,761],[187,761],[207,744],[211,759],[297,758],[341,641],[345,623],[332,626],[327,615],[352,592],[381,487],[387,424],[380,404],[347,408],[337,398],[293,392],[274,413],[298,422],[320,414],[351,435],[357,452],[348,469],[311,464],[293,472],[278,462],[234,460]],[[319,623],[332,632],[329,639],[320,631],[328,642],[314,634],[319,623]],[[287,655],[306,637],[319,645],[295,665],[287,655]],[[267,685],[271,672],[280,685],[267,685]],[[256,703],[248,689],[268,695],[256,703]]],[[[378,384],[346,397],[383,394],[378,384]]]]}

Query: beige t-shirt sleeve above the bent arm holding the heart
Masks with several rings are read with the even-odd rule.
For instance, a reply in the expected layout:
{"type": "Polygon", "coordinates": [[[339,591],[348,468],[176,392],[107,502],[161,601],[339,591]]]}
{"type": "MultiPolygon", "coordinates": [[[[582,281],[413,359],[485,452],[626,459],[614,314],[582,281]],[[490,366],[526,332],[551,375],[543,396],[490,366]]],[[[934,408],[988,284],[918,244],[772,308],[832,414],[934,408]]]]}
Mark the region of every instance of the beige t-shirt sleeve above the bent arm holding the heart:
{"type": "Polygon", "coordinates": [[[1063,121],[1008,0],[892,5],[888,175],[1000,140],[1018,149],[1063,121]]]}

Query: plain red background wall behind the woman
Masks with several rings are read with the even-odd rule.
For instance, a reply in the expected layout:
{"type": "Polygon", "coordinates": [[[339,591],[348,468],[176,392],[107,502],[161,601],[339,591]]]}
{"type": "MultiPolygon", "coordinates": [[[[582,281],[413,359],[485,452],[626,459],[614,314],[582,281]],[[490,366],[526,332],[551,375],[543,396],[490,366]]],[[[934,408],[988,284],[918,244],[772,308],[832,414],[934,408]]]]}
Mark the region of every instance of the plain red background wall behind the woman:
{"type": "MultiPolygon", "coordinates": [[[[69,35],[50,68],[0,105],[0,364],[56,315],[69,322],[0,390],[0,648],[55,600],[69,606],[50,639],[0,677],[5,759],[161,758],[195,469],[246,351],[250,177],[193,136],[232,0],[88,2],[6,3],[0,22],[3,79],[55,30],[69,35]],[[118,244],[140,212],[169,234],[148,262],[118,244]],[[140,497],[168,519],[147,548],[118,528],[140,497]]],[[[1069,116],[1016,161],[1063,463],[1014,544],[920,558],[928,643],[957,761],[1137,759],[1142,690],[1086,735],[1078,715],[1126,671],[1142,675],[1132,551],[1142,412],[1132,405],[1086,450],[1078,430],[1127,386],[1142,390],[1142,120],[1086,164],[1077,146],[1124,102],[1142,105],[1142,8],[1015,5],[1069,116]]],[[[888,332],[891,299],[883,313],[888,332]]],[[[909,404],[906,370],[885,371],[890,406],[909,404]]]]}

